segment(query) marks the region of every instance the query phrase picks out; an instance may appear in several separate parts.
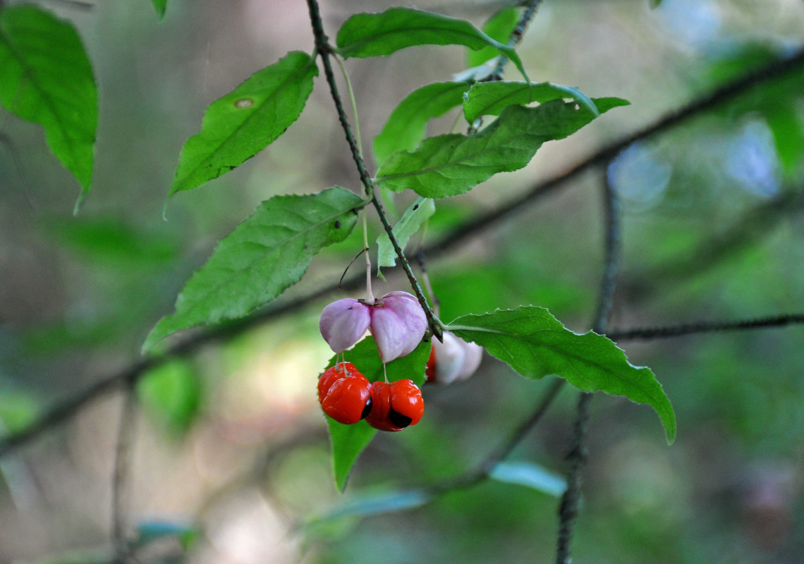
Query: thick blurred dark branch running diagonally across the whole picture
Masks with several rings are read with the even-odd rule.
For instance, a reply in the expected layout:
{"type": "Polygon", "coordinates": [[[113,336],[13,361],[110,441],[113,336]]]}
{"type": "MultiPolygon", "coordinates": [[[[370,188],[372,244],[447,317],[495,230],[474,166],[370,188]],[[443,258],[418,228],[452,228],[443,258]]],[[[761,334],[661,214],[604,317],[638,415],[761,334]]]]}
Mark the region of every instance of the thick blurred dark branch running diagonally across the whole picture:
{"type": "MultiPolygon", "coordinates": [[[[523,210],[526,204],[538,201],[540,198],[552,193],[553,190],[556,190],[569,180],[576,178],[582,172],[591,170],[596,166],[605,165],[608,161],[615,157],[617,153],[623,149],[626,149],[626,147],[635,141],[640,141],[647,137],[652,137],[655,134],[667,131],[675,127],[675,125],[679,125],[683,121],[690,119],[691,117],[698,116],[699,114],[716,107],[718,104],[723,104],[729,100],[733,100],[736,96],[748,92],[757,84],[785,76],[790,72],[800,70],[802,67],[804,67],[804,50],[797,51],[796,54],[789,59],[775,61],[766,65],[765,67],[761,67],[755,72],[750,72],[748,75],[734,80],[722,88],[716,89],[716,91],[712,92],[711,94],[694,100],[691,102],[691,104],[688,104],[684,108],[681,108],[676,112],[672,112],[669,116],[663,117],[662,119],[654,122],[653,125],[649,125],[645,129],[642,129],[637,133],[632,133],[631,135],[624,137],[619,141],[613,141],[613,143],[598,150],[597,153],[594,153],[584,161],[577,163],[576,166],[573,166],[564,174],[560,174],[556,177],[548,178],[548,180],[537,183],[531,188],[531,190],[529,190],[526,194],[523,194],[523,196],[520,198],[504,204],[497,209],[490,210],[485,214],[477,215],[474,218],[467,220],[465,223],[461,223],[461,225],[457,226],[451,233],[435,243],[425,247],[423,251],[425,251],[425,254],[430,259],[443,255],[447,251],[453,250],[453,247],[456,247],[459,243],[462,243],[467,239],[473,239],[483,235],[490,227],[503,222],[503,220],[508,219],[511,215],[514,215],[515,212],[523,210]]],[[[149,370],[162,366],[162,364],[170,361],[173,358],[185,357],[205,345],[209,345],[217,341],[228,340],[229,338],[235,337],[236,335],[243,333],[247,329],[251,329],[256,325],[261,325],[267,321],[273,321],[274,319],[277,319],[277,317],[296,312],[297,310],[306,307],[316,300],[321,300],[322,298],[337,292],[339,288],[345,290],[359,288],[359,285],[363,282],[363,280],[363,274],[360,273],[357,276],[347,278],[343,281],[343,284],[330,284],[327,286],[322,286],[322,288],[318,288],[318,290],[311,292],[306,296],[301,296],[295,300],[286,301],[284,304],[275,305],[273,307],[269,307],[268,309],[261,310],[254,313],[252,316],[245,317],[240,321],[234,321],[226,325],[218,325],[191,333],[182,341],[178,341],[174,345],[165,349],[161,356],[150,356],[139,359],[137,362],[133,362],[133,364],[130,366],[127,366],[116,373],[109,374],[104,378],[100,378],[100,380],[91,386],[88,386],[84,390],[81,390],[77,394],[74,394],[69,398],[64,398],[59,403],[56,403],[53,407],[45,411],[43,415],[39,417],[39,419],[35,419],[35,421],[28,427],[0,438],[0,457],[5,456],[17,448],[22,447],[24,444],[29,443],[31,440],[41,435],[44,431],[51,429],[51,427],[58,426],[59,423],[64,422],[64,420],[74,415],[77,411],[80,411],[85,404],[91,402],[93,399],[108,394],[113,390],[117,390],[117,388],[125,382],[136,382],[149,370]]]]}

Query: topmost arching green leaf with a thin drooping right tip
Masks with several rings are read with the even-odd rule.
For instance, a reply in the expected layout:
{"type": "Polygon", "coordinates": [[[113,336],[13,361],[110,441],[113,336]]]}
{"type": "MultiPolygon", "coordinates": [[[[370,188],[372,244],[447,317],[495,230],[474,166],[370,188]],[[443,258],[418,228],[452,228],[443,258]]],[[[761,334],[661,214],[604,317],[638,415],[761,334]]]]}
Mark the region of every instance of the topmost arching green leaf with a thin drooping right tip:
{"type": "Polygon", "coordinates": [[[390,8],[379,14],[355,14],[338,31],[338,53],[349,57],[379,57],[414,45],[483,47],[507,56],[527,79],[519,55],[512,47],[478,30],[463,19],[413,8],[390,8]]]}

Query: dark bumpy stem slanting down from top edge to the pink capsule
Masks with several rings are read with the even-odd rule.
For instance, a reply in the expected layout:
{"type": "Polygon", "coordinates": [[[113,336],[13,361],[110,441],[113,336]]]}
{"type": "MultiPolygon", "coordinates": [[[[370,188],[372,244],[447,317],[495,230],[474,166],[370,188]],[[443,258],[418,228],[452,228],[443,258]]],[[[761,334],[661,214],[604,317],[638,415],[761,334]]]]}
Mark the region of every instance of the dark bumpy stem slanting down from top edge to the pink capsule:
{"type": "Polygon", "coordinates": [[[332,101],[335,104],[335,111],[338,112],[338,121],[341,123],[343,134],[347,139],[352,158],[357,166],[357,170],[360,175],[360,182],[363,183],[363,190],[365,191],[365,194],[371,198],[371,204],[374,206],[374,209],[377,210],[379,222],[383,224],[385,232],[388,233],[388,239],[391,241],[392,247],[394,247],[394,251],[396,252],[396,256],[400,260],[400,264],[402,265],[405,276],[408,276],[408,281],[413,289],[413,293],[416,294],[416,300],[419,300],[421,308],[425,310],[425,316],[427,317],[427,323],[430,331],[439,341],[441,341],[443,338],[441,321],[436,317],[435,313],[433,313],[433,309],[430,308],[427,298],[425,297],[425,292],[422,291],[418,280],[416,280],[416,276],[413,274],[410,263],[408,263],[408,259],[405,258],[402,247],[400,247],[400,243],[396,239],[396,235],[394,235],[391,223],[388,223],[388,217],[385,215],[383,206],[381,206],[379,203],[379,199],[375,194],[374,186],[371,184],[371,176],[368,174],[363,157],[360,155],[361,152],[359,145],[357,141],[355,141],[355,136],[352,134],[351,125],[349,125],[346,111],[343,109],[343,100],[338,93],[338,84],[336,84],[335,76],[332,72],[332,63],[330,62],[332,47],[330,47],[329,39],[326,37],[326,33],[324,31],[324,24],[321,19],[321,10],[318,7],[318,1],[307,0],[307,8],[310,11],[310,24],[313,27],[315,48],[318,51],[318,55],[321,57],[321,62],[324,67],[324,75],[326,76],[326,83],[330,87],[330,95],[332,96],[332,101]]]}

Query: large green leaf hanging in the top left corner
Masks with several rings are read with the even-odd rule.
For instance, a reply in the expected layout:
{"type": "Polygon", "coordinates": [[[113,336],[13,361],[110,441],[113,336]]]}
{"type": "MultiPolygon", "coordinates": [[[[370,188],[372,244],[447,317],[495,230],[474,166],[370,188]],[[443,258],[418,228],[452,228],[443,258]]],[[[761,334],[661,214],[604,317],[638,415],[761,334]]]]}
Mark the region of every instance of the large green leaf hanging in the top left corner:
{"type": "Polygon", "coordinates": [[[72,24],[36,6],[0,10],[0,105],[45,130],[47,146],[81,186],[92,186],[97,88],[72,24]]]}

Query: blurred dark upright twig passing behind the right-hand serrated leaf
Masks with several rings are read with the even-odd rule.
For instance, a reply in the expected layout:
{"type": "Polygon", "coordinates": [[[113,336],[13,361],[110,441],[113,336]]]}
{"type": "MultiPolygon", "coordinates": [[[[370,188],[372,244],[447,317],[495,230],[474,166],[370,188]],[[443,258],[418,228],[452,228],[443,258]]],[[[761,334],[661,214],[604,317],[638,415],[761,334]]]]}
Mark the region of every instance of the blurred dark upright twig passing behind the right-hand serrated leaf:
{"type": "MultiPolygon", "coordinates": [[[[605,333],[609,326],[614,290],[617,286],[617,273],[620,269],[622,255],[620,203],[609,182],[607,170],[602,171],[602,176],[605,210],[605,259],[597,300],[597,311],[592,324],[592,329],[597,333],[605,333]]],[[[556,564],[570,564],[572,562],[572,536],[578,515],[581,477],[588,456],[586,435],[589,429],[589,405],[592,403],[592,398],[593,394],[582,392],[578,399],[578,411],[573,427],[573,445],[567,457],[569,460],[567,489],[561,497],[559,506],[556,564]]]]}

